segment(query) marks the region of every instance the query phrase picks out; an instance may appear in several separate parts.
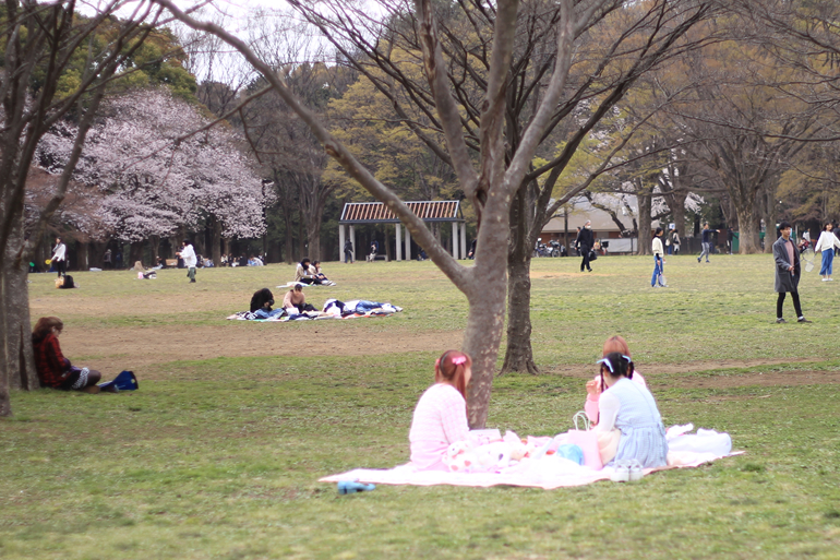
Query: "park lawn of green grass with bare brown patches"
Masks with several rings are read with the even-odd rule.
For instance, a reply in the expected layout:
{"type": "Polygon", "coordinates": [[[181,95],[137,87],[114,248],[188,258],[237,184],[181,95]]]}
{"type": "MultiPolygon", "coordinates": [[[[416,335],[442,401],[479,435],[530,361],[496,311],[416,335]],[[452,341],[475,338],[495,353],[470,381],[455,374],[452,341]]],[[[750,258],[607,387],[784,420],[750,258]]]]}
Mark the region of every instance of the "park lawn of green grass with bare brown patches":
{"type": "Polygon", "coordinates": [[[840,558],[840,282],[805,274],[814,323],[777,325],[767,255],[669,258],[667,289],[650,288],[652,259],[592,265],[533,262],[542,374],[499,378],[489,426],[567,430],[617,333],[665,426],[729,431],[745,455],[631,485],[338,496],[317,479],[408,461],[434,358],[459,344],[466,302],[432,263],[327,263],[338,286],[310,301],[405,311],[289,324],[224,321],[290,279],[285,265],[200,270],[194,285],[183,271],[79,273],[67,291],[37,274],[33,319],[61,317],[68,357],[106,379],[134,369],[141,389],[13,393],[0,558],[840,558]]]}

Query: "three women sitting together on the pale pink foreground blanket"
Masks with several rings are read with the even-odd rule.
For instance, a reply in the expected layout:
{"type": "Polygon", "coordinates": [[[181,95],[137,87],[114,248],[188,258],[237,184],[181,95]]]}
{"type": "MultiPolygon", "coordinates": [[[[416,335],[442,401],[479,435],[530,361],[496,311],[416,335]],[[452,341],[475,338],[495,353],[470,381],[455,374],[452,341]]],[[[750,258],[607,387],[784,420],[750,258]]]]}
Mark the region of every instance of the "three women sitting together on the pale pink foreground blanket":
{"type": "MultiPolygon", "coordinates": [[[[609,338],[597,364],[599,373],[586,384],[585,412],[599,442],[603,434],[614,449],[603,464],[635,460],[643,468],[665,466],[662,417],[645,379],[635,370],[624,338],[609,338]]],[[[447,470],[444,461],[449,445],[468,440],[466,395],[471,377],[472,360],[463,352],[447,350],[435,361],[435,383],[417,403],[408,437],[411,463],[418,469],[447,470]]]]}

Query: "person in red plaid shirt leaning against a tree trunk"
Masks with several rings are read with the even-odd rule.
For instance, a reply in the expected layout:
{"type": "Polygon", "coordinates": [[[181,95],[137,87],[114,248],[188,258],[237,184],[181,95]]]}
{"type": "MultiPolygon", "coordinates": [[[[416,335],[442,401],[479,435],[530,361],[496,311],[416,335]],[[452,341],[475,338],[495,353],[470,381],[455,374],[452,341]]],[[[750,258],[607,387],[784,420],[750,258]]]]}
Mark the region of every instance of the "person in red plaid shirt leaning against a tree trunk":
{"type": "Polygon", "coordinates": [[[86,393],[98,393],[97,383],[101,373],[87,368],[76,368],[61,354],[58,337],[64,323],[58,317],[41,317],[32,331],[32,346],[35,350],[35,369],[41,386],[86,393]]]}

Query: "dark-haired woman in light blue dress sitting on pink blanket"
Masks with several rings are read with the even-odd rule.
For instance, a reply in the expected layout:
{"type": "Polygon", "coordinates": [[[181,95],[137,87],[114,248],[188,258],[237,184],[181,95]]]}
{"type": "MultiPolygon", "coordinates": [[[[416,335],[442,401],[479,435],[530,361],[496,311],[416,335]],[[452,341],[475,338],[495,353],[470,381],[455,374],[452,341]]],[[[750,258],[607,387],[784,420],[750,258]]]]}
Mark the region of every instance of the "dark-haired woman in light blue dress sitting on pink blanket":
{"type": "Polygon", "coordinates": [[[632,381],[633,360],[611,352],[597,364],[601,365],[607,390],[598,400],[600,418],[595,429],[599,433],[609,433],[613,428],[621,431],[617,452],[607,465],[635,458],[643,468],[665,466],[668,441],[662,416],[650,391],[632,381]]]}

